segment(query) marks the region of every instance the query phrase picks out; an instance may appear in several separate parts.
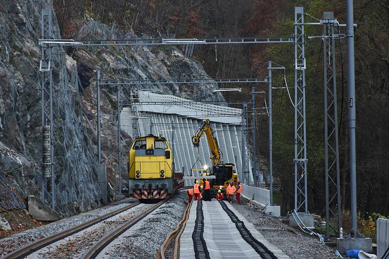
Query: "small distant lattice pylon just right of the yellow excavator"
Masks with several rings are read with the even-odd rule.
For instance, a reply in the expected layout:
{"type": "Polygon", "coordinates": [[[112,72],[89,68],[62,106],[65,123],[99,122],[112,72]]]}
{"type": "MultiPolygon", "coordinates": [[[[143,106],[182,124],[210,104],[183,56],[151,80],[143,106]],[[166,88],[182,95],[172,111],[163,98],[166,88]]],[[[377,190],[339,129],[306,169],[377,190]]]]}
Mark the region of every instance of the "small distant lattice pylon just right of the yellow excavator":
{"type": "Polygon", "coordinates": [[[248,150],[248,108],[247,104],[243,104],[242,110],[242,174],[243,174],[243,182],[248,184],[250,181],[250,157],[248,150]]]}

